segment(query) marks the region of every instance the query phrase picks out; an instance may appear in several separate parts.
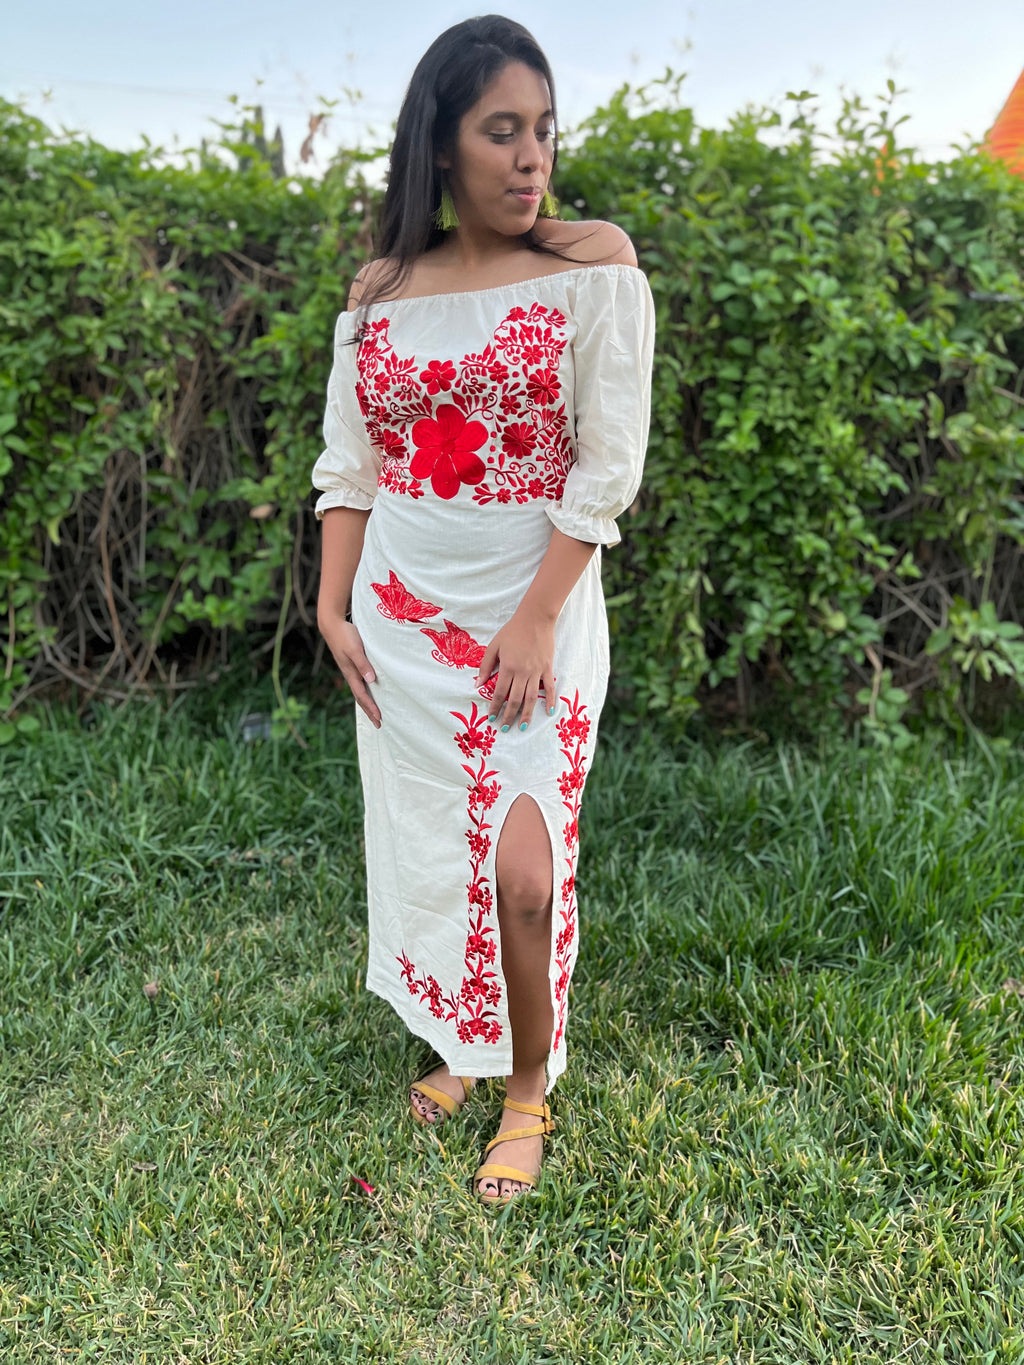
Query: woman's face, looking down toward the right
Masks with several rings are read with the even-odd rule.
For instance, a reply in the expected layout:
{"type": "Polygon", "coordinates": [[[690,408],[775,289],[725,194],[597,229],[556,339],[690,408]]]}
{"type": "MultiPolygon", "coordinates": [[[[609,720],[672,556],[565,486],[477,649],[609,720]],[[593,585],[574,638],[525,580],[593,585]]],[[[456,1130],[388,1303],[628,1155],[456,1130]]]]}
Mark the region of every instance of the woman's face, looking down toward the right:
{"type": "Polygon", "coordinates": [[[509,61],[463,115],[449,171],[459,224],[502,236],[527,232],[537,218],[554,158],[547,82],[509,61]]]}

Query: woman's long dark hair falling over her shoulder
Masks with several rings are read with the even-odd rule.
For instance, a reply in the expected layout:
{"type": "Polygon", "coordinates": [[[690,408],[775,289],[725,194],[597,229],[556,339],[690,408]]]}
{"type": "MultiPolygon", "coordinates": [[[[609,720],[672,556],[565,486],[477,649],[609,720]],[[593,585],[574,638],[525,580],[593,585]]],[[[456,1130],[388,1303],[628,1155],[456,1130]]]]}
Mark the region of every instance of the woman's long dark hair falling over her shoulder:
{"type": "MultiPolygon", "coordinates": [[[[419,59],[399,111],[374,242],[377,257],[386,258],[388,265],[360,295],[360,311],[390,293],[412,262],[444,240],[444,232],[434,222],[442,187],[437,158],[451,154],[463,115],[509,61],[522,61],[547,82],[556,127],[552,169],[557,164],[554,79],[532,34],[500,14],[464,19],[445,29],[419,59]]],[[[532,228],[523,233],[523,242],[531,251],[563,255],[532,228]]]]}

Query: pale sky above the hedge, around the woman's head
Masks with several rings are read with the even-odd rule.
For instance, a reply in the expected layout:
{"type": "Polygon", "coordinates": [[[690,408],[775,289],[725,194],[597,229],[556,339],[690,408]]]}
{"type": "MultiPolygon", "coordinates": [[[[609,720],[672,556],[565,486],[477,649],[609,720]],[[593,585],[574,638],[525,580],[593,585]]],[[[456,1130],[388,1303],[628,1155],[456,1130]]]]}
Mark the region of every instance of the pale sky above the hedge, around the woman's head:
{"type": "MultiPolygon", "coordinates": [[[[341,98],[324,164],[333,146],[386,142],[423,49],[479,12],[448,0],[5,0],[0,94],[124,149],[143,134],[195,146],[232,117],[229,94],[258,98],[289,161],[318,97],[341,98]]],[[[908,91],[901,141],[938,160],[984,135],[1024,67],[1020,0],[512,0],[500,12],[546,51],[563,128],[666,66],[688,74],[687,102],[713,127],[786,90],[816,91],[831,113],[841,87],[870,100],[892,76],[908,91]]]]}

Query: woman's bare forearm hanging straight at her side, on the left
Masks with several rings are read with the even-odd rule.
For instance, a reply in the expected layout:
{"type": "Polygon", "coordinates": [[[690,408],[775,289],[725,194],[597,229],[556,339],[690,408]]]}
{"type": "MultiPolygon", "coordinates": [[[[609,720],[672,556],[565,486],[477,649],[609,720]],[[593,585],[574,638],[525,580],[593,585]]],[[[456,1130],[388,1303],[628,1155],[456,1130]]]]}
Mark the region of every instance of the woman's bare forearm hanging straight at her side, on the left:
{"type": "Polygon", "coordinates": [[[359,632],[347,620],[369,516],[360,508],[328,508],[324,513],[317,625],[352,689],[352,696],[380,729],[381,711],[367,687],[367,682],[375,680],[375,674],[363,651],[359,632]]]}

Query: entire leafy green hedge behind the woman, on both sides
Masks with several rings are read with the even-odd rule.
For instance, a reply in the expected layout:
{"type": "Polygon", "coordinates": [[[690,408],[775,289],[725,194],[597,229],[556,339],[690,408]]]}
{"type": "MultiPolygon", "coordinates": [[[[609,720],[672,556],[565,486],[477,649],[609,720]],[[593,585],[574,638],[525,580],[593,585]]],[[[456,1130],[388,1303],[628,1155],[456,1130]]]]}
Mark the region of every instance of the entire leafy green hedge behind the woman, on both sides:
{"type": "MultiPolygon", "coordinates": [[[[700,130],[669,79],[563,150],[567,212],[623,224],[658,310],[606,560],[627,718],[770,688],[904,743],[915,693],[946,719],[979,681],[1020,695],[1024,183],[922,164],[897,121],[851,101],[826,138],[797,101],[700,130]]],[[[309,474],[375,195],[358,156],[313,183],[251,128],[223,150],[171,168],[0,104],[0,711],[239,632],[315,644],[309,474]]]]}

